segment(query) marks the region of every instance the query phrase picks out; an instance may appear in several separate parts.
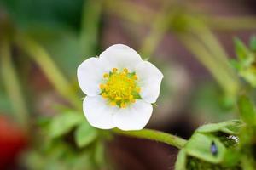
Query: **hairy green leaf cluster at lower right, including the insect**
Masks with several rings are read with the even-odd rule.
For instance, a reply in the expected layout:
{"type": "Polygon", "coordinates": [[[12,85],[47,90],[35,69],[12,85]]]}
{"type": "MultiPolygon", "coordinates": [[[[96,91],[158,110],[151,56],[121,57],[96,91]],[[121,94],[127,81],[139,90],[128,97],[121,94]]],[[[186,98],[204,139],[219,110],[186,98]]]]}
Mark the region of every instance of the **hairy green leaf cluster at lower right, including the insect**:
{"type": "Polygon", "coordinates": [[[243,124],[237,120],[199,127],[180,150],[176,170],[240,169],[237,141],[231,137],[235,137],[241,127],[243,124]]]}

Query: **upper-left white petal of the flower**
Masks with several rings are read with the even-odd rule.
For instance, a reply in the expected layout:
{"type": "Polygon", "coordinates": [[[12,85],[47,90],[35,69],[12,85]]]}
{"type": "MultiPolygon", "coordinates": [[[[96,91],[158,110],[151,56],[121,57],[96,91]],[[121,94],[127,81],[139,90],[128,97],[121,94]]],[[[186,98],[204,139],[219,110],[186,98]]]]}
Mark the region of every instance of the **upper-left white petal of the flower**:
{"type": "Polygon", "coordinates": [[[92,57],[86,59],[78,68],[78,80],[79,86],[83,90],[84,94],[88,96],[96,96],[100,94],[99,88],[102,82],[103,74],[108,73],[108,70],[104,66],[104,61],[99,58],[92,57]]]}

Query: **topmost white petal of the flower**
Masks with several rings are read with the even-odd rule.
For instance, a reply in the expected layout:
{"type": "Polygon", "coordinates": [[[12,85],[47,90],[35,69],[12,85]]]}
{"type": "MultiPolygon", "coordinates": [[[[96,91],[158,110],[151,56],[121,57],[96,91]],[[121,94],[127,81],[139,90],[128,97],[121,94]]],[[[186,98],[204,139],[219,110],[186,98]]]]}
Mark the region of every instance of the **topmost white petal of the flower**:
{"type": "Polygon", "coordinates": [[[127,68],[129,71],[135,71],[135,66],[143,62],[141,56],[134,49],[123,44],[115,44],[107,48],[102,52],[100,58],[108,62],[109,70],[127,68]]]}

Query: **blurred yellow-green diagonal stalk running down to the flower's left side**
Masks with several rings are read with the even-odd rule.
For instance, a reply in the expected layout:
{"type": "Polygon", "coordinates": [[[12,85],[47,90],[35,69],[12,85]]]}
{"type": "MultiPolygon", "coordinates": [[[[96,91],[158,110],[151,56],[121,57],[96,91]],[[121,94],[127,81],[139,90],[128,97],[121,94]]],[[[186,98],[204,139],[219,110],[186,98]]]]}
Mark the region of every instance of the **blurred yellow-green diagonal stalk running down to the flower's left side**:
{"type": "Polygon", "coordinates": [[[73,107],[80,110],[81,102],[47,51],[28,37],[18,37],[17,43],[44,71],[45,76],[48,77],[49,82],[53,84],[59,94],[67,99],[73,107]]]}

